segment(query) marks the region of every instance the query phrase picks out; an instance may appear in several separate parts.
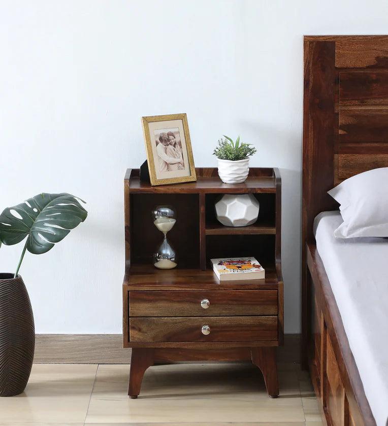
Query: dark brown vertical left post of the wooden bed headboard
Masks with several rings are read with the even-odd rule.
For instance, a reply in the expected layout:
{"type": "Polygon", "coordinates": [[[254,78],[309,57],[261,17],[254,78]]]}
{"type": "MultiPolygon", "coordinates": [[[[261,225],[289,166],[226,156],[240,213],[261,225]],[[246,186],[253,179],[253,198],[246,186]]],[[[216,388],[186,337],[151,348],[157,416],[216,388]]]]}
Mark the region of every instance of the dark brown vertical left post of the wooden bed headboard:
{"type": "MultiPolygon", "coordinates": [[[[334,186],[335,42],[304,43],[302,241],[313,241],[315,216],[336,208],[334,186]]],[[[306,248],[302,244],[302,366],[307,367],[306,248]]]]}

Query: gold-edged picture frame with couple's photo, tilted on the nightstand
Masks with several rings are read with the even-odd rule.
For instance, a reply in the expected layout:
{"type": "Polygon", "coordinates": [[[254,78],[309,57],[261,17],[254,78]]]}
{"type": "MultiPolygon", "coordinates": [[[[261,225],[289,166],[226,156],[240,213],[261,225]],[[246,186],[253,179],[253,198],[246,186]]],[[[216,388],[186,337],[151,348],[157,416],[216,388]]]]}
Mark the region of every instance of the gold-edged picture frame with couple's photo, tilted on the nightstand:
{"type": "Polygon", "coordinates": [[[151,185],[197,180],[186,114],[142,117],[151,185]]]}

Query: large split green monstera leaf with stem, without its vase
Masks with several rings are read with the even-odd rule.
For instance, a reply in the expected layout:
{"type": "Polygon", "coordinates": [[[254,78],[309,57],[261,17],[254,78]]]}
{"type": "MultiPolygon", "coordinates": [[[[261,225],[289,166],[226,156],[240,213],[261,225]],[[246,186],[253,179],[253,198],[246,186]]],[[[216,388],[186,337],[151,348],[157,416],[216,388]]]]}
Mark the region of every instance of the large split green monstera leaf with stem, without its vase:
{"type": "Polygon", "coordinates": [[[48,252],[86,219],[87,211],[78,200],[85,203],[67,193],[42,193],[4,209],[0,215],[0,241],[13,245],[27,237],[15,277],[26,250],[35,255],[48,252]]]}

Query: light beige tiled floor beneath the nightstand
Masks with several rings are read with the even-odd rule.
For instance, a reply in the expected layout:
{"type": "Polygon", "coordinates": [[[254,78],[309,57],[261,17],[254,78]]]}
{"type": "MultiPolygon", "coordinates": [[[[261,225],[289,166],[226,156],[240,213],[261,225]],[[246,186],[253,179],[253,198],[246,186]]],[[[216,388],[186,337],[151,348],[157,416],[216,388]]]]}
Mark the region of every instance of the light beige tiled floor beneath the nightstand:
{"type": "Polygon", "coordinates": [[[151,367],[137,400],[127,397],[128,372],[128,365],[35,364],[22,395],[0,398],[0,424],[320,426],[298,364],[279,364],[278,399],[267,397],[249,364],[151,367]]]}

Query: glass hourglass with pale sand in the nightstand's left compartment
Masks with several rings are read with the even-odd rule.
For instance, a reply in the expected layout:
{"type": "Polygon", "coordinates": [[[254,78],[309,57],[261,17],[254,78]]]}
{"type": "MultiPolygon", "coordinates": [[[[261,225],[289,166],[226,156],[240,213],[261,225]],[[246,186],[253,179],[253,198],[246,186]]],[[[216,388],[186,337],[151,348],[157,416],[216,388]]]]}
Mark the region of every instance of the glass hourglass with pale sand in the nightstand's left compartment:
{"type": "Polygon", "coordinates": [[[152,212],[153,223],[163,232],[164,238],[156,253],[153,255],[153,265],[159,269],[172,269],[177,266],[176,253],[167,240],[167,233],[171,231],[176,222],[176,213],[173,207],[159,205],[152,212]]]}

